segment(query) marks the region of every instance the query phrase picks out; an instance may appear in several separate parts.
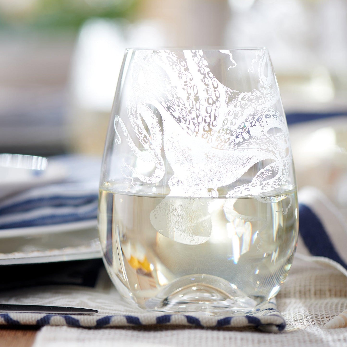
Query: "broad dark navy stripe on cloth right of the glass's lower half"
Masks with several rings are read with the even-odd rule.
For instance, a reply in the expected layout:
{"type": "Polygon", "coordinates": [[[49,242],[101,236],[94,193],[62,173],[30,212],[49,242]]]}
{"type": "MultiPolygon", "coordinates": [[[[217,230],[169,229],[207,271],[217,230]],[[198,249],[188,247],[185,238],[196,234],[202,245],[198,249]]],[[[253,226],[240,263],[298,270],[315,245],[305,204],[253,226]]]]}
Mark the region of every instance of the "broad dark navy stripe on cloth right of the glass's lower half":
{"type": "Polygon", "coordinates": [[[347,269],[318,216],[305,204],[299,204],[299,215],[299,233],[308,251],[314,256],[335,260],[347,269]]]}

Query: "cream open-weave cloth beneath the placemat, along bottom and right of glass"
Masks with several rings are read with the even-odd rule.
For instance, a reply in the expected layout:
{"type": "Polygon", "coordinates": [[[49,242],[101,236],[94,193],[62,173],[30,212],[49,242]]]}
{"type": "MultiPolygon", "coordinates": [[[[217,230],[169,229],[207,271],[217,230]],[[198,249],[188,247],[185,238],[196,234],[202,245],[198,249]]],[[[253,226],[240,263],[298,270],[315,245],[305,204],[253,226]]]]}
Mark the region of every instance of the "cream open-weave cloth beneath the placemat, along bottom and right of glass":
{"type": "Polygon", "coordinates": [[[347,309],[347,278],[329,265],[296,260],[277,296],[286,330],[266,334],[253,328],[126,328],[93,329],[44,327],[35,347],[56,346],[347,346],[347,328],[324,329],[347,309]]]}

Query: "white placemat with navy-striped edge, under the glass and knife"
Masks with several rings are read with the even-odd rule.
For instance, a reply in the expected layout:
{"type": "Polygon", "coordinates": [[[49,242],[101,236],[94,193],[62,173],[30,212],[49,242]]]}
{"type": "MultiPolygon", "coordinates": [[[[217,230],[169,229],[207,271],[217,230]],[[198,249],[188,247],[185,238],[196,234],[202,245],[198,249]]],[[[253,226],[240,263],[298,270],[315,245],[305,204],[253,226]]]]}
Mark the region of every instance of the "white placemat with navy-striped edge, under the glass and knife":
{"type": "MultiPolygon", "coordinates": [[[[106,276],[106,274],[105,274],[106,276]]],[[[100,280],[103,285],[110,283],[100,280]]],[[[45,286],[12,290],[0,295],[3,304],[31,304],[93,308],[96,314],[47,314],[47,313],[0,313],[0,324],[7,325],[69,325],[71,327],[140,327],[153,325],[188,327],[257,327],[264,331],[279,332],[285,328],[285,320],[277,311],[273,299],[259,305],[255,312],[230,317],[200,316],[149,312],[140,310],[123,301],[110,285],[110,288],[88,288],[81,286],[45,286]]]]}

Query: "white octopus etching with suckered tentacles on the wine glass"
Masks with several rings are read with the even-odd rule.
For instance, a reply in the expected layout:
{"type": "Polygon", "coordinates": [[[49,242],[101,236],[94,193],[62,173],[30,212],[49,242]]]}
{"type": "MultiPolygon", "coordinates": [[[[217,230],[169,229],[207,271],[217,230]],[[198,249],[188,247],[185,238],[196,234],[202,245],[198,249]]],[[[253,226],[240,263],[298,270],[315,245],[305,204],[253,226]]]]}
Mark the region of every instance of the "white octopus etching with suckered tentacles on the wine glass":
{"type": "MultiPolygon", "coordinates": [[[[121,129],[132,152],[155,165],[151,175],[146,176],[131,164],[123,163],[125,177],[158,183],[166,172],[164,158],[173,171],[168,181],[170,193],[151,213],[151,222],[157,230],[161,228],[162,214],[167,218],[172,209],[176,215],[185,213],[186,206],[177,206],[177,203],[172,206],[170,197],[191,198],[187,200],[191,205],[189,213],[192,223],[196,224],[201,211],[194,210],[194,198],[218,197],[221,187],[230,186],[225,194],[230,197],[225,211],[232,214],[238,197],[260,196],[287,184],[291,161],[287,124],[273,107],[279,100],[279,89],[271,73],[267,51],[257,51],[251,62],[249,72],[253,72],[254,63],[258,63],[261,87],[249,92],[232,90],[218,81],[203,51],[176,53],[137,51],[132,62],[130,84],[133,88],[127,100],[127,117],[143,149],[134,144],[119,116],[115,116],[114,122],[116,142],[121,142],[121,129]],[[232,185],[263,160],[271,163],[260,169],[249,183],[232,185]]],[[[220,51],[220,54],[230,57],[229,69],[236,68],[230,51],[220,51]]],[[[268,202],[266,198],[260,199],[268,202]]],[[[196,240],[196,235],[191,235],[189,238],[189,228],[192,228],[189,222],[180,228],[179,232],[173,228],[167,234],[173,233],[172,237],[188,244],[204,242],[209,237],[200,235],[202,239],[196,240]]]]}

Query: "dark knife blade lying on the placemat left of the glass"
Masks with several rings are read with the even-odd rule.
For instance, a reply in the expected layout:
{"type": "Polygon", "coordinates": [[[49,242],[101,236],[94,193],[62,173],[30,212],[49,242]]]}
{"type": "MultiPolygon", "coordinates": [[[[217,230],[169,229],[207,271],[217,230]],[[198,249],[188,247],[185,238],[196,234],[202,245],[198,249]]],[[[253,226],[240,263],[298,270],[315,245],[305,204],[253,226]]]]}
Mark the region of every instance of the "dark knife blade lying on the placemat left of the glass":
{"type": "Polygon", "coordinates": [[[81,307],[0,304],[0,312],[87,314],[87,313],[98,313],[99,311],[92,310],[90,308],[81,308],[81,307]]]}

